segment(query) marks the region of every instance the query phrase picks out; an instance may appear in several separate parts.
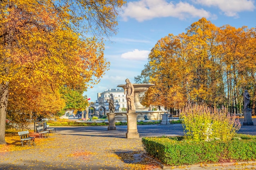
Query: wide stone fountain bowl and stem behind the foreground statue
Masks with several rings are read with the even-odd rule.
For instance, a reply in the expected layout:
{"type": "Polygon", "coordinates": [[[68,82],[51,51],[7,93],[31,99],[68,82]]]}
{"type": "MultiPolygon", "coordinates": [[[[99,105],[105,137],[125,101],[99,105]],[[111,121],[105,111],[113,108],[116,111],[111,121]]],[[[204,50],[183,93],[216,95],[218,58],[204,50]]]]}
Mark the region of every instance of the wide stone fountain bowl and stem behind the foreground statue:
{"type": "MultiPolygon", "coordinates": [[[[149,87],[155,86],[154,84],[132,84],[134,87],[134,104],[136,111],[148,111],[148,108],[145,108],[139,102],[139,93],[145,92],[149,87]]],[[[125,85],[118,85],[117,87],[122,87],[125,89],[125,85]]]]}

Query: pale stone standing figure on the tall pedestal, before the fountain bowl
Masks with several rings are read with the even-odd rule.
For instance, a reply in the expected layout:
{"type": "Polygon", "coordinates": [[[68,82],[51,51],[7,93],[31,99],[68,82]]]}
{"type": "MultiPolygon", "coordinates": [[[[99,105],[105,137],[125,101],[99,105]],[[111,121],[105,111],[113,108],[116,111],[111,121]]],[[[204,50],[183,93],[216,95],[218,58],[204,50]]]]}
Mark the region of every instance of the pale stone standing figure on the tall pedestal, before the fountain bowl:
{"type": "Polygon", "coordinates": [[[135,111],[135,104],[134,104],[134,87],[130,80],[126,78],[126,85],[124,88],[124,94],[126,94],[126,101],[127,101],[127,111],[135,111]]]}

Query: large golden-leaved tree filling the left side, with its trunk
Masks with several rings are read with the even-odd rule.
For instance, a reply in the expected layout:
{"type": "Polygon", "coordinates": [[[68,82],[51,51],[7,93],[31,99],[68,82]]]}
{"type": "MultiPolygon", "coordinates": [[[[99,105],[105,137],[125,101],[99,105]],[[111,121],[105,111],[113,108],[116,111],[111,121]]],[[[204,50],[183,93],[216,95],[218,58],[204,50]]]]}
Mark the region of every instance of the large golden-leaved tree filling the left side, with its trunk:
{"type": "Polygon", "coordinates": [[[99,82],[109,63],[98,39],[116,33],[118,9],[124,4],[123,0],[0,0],[0,144],[6,143],[7,109],[24,113],[25,98],[31,102],[25,111],[33,112],[38,101],[44,101],[46,109],[47,99],[63,103],[60,87],[83,91],[99,82]],[[7,108],[9,97],[12,103],[7,108]]]}

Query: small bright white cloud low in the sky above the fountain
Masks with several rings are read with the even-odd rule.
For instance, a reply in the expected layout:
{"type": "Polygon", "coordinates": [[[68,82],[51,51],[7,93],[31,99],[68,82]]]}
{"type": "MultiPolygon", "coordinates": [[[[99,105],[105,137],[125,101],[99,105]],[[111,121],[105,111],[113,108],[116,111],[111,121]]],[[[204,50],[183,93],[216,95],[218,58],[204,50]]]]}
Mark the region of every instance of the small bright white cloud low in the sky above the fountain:
{"type": "Polygon", "coordinates": [[[135,49],[133,51],[129,51],[124,54],[121,54],[121,58],[129,59],[129,60],[146,60],[148,58],[149,53],[150,51],[148,50],[135,49]]]}

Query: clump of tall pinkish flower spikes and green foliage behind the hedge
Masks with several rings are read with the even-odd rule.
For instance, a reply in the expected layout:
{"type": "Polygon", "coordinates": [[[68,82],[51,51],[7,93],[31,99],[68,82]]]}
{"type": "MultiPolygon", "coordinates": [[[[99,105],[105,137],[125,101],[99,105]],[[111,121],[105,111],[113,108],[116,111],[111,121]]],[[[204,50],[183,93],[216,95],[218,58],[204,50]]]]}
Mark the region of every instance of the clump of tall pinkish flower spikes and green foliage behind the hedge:
{"type": "Polygon", "coordinates": [[[195,141],[231,140],[240,129],[236,116],[230,116],[225,108],[209,108],[190,104],[180,113],[184,135],[195,141]]]}

